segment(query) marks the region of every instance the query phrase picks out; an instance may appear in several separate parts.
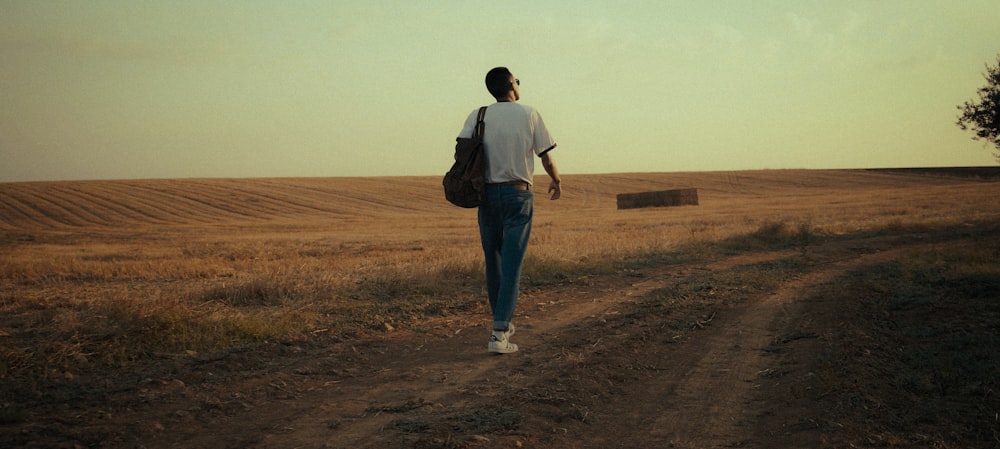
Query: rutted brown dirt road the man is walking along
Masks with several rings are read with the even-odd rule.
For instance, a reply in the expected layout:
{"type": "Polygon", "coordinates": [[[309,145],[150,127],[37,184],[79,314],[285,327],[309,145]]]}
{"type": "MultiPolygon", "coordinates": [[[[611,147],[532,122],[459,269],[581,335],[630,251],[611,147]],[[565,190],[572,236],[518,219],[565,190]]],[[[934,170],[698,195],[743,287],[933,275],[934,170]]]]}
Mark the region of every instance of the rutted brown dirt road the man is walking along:
{"type": "Polygon", "coordinates": [[[838,421],[842,414],[824,402],[837,367],[817,359],[841,344],[854,313],[832,299],[838,279],[949,238],[831,239],[530,288],[516,317],[521,351],[511,355],[486,352],[485,309],[360,340],[319,335],[192,353],[108,376],[107,397],[54,408],[7,441],[71,448],[851,447],[861,438],[857,427],[838,421]]]}

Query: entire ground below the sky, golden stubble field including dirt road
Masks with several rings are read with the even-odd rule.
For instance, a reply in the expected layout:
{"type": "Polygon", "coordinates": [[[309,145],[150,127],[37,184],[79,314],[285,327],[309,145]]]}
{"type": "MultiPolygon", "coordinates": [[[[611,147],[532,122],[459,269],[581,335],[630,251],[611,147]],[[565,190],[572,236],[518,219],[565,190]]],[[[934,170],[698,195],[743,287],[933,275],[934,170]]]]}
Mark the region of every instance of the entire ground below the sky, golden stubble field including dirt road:
{"type": "Polygon", "coordinates": [[[564,184],[502,357],[437,178],[0,184],[0,446],[1000,445],[996,170],[564,184]]]}

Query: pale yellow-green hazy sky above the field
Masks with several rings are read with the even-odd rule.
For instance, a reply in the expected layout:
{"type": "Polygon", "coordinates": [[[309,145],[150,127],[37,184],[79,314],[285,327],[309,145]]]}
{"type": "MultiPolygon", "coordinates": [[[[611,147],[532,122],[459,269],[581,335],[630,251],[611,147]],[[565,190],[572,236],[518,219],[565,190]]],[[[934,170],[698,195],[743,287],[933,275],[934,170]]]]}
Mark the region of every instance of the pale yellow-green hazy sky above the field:
{"type": "Polygon", "coordinates": [[[443,175],[499,65],[567,174],[997,165],[998,53],[996,0],[0,0],[0,182],[443,175]]]}

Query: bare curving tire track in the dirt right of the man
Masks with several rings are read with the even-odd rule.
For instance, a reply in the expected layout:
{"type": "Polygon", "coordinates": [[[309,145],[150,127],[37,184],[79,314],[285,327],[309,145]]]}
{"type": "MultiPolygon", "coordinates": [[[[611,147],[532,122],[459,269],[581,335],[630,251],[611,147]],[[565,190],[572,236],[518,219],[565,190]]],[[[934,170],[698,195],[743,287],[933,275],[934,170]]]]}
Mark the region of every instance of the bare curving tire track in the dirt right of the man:
{"type": "MultiPolygon", "coordinates": [[[[849,242],[848,246],[857,243],[849,242]]],[[[912,248],[886,248],[820,264],[788,280],[777,291],[721,314],[713,321],[712,332],[700,337],[699,350],[688,351],[677,360],[680,369],[644,388],[642,394],[664,399],[663,412],[649,420],[645,442],[682,448],[767,447],[768,442],[759,440],[754,426],[761,412],[759,404],[766,399],[759,396],[757,388],[762,376],[777,368],[765,349],[790,335],[808,335],[802,331],[808,325],[803,321],[809,314],[808,305],[800,300],[829,288],[831,281],[850,270],[884,263],[912,248]]]]}

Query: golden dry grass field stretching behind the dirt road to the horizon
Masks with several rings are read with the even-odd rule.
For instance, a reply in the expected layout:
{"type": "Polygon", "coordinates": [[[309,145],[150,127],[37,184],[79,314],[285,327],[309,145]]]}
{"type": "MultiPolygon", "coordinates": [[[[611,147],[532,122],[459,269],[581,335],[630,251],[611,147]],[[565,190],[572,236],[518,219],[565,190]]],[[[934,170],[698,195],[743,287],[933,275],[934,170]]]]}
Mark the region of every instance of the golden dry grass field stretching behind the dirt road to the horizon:
{"type": "MultiPolygon", "coordinates": [[[[536,197],[528,285],[1000,218],[1000,184],[918,174],[580,175],[565,184],[560,201],[536,197]],[[618,193],[688,187],[700,206],[616,209],[618,193]]],[[[437,178],[0,184],[0,379],[419,329],[483,307],[477,235],[475,212],[448,205],[437,178]]]]}

